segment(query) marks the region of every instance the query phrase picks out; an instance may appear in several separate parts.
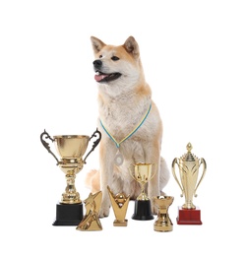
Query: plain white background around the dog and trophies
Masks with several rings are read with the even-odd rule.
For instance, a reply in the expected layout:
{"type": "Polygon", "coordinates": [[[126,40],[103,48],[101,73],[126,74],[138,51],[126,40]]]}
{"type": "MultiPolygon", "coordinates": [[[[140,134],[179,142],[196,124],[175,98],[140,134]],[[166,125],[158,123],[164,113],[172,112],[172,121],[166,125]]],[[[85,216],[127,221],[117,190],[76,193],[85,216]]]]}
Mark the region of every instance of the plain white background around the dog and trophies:
{"type": "MultiPolygon", "coordinates": [[[[245,1],[1,1],[1,211],[3,255],[245,255],[245,1]],[[168,166],[186,152],[208,164],[194,204],[202,225],[177,225],[183,204],[174,178],[165,188],[172,232],[131,219],[83,232],[53,226],[65,178],[39,135],[96,128],[97,89],[90,36],[139,42],[146,79],[163,121],[168,166]],[[244,236],[244,238],[243,238],[244,236]]],[[[51,145],[51,149],[52,149],[51,145]]],[[[97,168],[96,149],[77,175],[97,168]]]]}

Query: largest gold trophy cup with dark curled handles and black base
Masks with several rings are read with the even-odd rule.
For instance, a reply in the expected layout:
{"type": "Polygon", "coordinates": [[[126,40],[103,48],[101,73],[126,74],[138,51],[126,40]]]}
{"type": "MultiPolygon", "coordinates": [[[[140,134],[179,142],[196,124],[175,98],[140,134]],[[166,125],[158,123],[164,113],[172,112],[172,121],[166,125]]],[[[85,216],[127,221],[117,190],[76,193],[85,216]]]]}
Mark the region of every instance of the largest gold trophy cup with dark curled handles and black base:
{"type": "Polygon", "coordinates": [[[57,135],[51,138],[44,130],[40,135],[43,147],[57,161],[57,165],[66,174],[67,186],[62,194],[61,200],[56,204],[56,221],[53,225],[78,225],[83,219],[83,204],[79,192],[75,187],[76,174],[79,173],[94,148],[99,144],[101,139],[100,132],[96,131],[92,136],[87,135],[57,135]],[[93,142],[92,150],[83,160],[89,142],[93,137],[98,138],[93,142]],[[45,141],[50,140],[55,143],[56,150],[60,155],[60,160],[51,152],[49,144],[45,141]]]}

